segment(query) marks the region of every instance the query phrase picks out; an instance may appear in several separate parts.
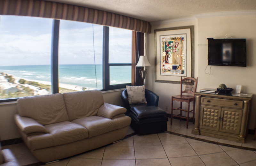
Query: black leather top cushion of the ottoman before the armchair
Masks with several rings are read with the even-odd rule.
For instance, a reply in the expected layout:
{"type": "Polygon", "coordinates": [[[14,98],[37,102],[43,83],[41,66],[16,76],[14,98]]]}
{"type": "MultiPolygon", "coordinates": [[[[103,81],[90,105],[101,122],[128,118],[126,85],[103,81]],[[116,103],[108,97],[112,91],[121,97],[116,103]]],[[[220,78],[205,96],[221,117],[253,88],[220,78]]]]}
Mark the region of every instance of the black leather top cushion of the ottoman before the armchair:
{"type": "Polygon", "coordinates": [[[137,116],[139,119],[150,118],[150,117],[162,117],[167,115],[167,113],[156,106],[138,106],[132,107],[131,111],[137,116]]]}

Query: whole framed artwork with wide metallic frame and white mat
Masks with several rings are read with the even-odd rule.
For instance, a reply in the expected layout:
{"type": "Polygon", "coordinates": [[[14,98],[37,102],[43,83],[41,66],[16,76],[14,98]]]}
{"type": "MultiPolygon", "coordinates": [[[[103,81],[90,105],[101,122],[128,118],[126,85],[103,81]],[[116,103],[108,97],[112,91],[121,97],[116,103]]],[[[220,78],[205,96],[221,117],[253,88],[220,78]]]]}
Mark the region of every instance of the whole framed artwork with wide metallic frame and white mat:
{"type": "Polygon", "coordinates": [[[155,29],[155,82],[194,78],[194,26],[155,29]]]}

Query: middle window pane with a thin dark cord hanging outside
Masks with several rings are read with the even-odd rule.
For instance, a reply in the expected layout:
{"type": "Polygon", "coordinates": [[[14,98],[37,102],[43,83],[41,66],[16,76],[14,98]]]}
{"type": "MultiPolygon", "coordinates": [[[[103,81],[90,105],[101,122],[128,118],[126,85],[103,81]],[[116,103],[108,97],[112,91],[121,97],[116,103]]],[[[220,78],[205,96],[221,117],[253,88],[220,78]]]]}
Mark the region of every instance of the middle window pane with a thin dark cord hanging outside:
{"type": "Polygon", "coordinates": [[[103,26],[60,20],[59,92],[102,89],[102,43],[103,26]]]}

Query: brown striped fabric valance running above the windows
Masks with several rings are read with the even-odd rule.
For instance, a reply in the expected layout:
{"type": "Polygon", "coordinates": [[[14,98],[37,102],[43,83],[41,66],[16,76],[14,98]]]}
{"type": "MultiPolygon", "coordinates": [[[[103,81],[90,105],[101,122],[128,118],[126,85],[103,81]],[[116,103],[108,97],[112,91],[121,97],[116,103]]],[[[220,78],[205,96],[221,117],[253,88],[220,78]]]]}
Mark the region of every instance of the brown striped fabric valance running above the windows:
{"type": "Polygon", "coordinates": [[[0,15],[65,19],[150,33],[148,21],[97,9],[43,0],[0,0],[0,15]]]}

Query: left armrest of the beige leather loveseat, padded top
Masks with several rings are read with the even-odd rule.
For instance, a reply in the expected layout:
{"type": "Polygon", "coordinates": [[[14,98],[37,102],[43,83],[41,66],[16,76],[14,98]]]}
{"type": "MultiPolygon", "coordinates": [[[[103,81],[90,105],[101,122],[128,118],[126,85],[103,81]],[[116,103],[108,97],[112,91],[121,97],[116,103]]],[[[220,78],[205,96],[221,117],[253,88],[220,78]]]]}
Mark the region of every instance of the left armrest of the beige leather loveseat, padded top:
{"type": "Polygon", "coordinates": [[[25,134],[31,133],[49,133],[49,131],[36,120],[29,117],[21,117],[20,115],[14,115],[14,120],[19,129],[25,134]]]}

